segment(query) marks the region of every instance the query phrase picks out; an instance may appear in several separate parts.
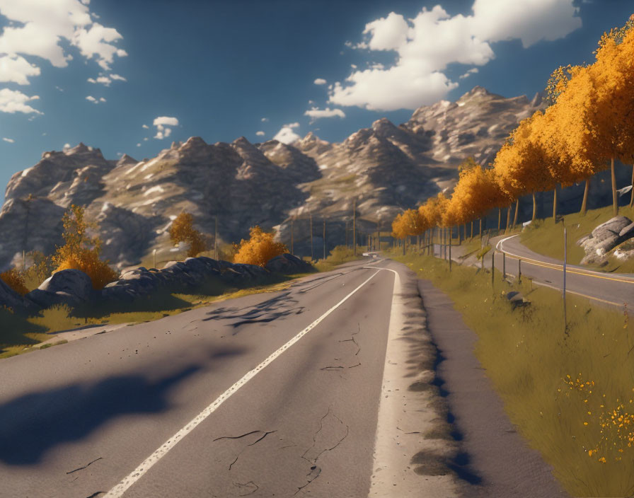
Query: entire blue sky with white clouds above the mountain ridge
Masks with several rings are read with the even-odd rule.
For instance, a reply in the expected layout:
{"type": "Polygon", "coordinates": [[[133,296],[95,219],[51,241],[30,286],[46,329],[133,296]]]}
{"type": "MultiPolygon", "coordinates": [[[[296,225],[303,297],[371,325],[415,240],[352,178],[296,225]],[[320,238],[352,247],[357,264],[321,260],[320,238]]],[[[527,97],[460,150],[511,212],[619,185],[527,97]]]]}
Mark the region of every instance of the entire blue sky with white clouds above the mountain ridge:
{"type": "Polygon", "coordinates": [[[0,0],[0,190],[44,151],[341,141],[473,86],[541,91],[626,0],[0,0]],[[259,134],[258,134],[259,132],[259,134]]]}

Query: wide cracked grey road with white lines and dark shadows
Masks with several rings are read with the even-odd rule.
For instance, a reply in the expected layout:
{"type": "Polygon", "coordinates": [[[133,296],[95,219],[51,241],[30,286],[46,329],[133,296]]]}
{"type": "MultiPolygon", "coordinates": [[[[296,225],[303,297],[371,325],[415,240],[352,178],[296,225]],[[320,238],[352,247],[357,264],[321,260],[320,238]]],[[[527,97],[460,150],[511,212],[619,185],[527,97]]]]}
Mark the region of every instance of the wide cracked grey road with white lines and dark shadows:
{"type": "Polygon", "coordinates": [[[456,496],[410,465],[444,451],[415,285],[364,260],[0,361],[0,497],[456,496]]]}

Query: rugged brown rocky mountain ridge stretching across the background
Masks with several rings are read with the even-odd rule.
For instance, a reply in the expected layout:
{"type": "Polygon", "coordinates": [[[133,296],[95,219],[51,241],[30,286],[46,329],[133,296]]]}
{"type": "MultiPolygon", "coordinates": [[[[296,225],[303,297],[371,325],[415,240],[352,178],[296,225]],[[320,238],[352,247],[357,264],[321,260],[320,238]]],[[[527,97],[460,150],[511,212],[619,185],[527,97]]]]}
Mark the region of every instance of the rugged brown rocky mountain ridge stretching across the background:
{"type": "Polygon", "coordinates": [[[107,160],[79,144],[48,151],[32,168],[13,175],[0,210],[0,268],[20,264],[23,250],[51,253],[62,243],[61,218],[71,204],[86,207],[100,226],[103,256],[120,269],[157,250],[173,259],[171,221],[191,212],[197,228],[226,242],[248,237],[256,224],[277,228],[294,253],[321,256],[326,245],[344,243],[357,206],[361,232],[389,230],[401,209],[424,202],[454,185],[467,156],[487,163],[519,120],[543,108],[536,95],[504,98],[475,87],[459,100],[415,110],[408,122],[385,118],[340,143],[309,133],[293,144],[207,144],[200,137],[173,142],[154,158],[107,160]],[[293,234],[291,236],[291,221],[293,234]]]}

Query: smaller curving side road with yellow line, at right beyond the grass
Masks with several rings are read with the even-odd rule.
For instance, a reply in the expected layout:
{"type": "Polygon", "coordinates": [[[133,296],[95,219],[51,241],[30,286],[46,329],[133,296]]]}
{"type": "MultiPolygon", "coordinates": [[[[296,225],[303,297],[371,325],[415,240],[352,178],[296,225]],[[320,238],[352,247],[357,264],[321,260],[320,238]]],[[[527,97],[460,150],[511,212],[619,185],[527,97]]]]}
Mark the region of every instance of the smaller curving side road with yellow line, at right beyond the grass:
{"type": "MultiPolygon", "coordinates": [[[[506,253],[506,272],[517,277],[521,265],[521,276],[532,279],[534,284],[563,289],[563,265],[559,260],[544,256],[526,248],[519,236],[491,238],[495,246],[495,267],[504,269],[502,253],[506,253]],[[521,260],[521,263],[519,262],[521,260]]],[[[452,260],[459,260],[458,248],[453,248],[452,260]]],[[[435,245],[434,253],[441,254],[441,246],[435,245]]],[[[485,255],[484,266],[491,267],[491,253],[485,255]]],[[[566,293],[590,299],[595,303],[634,309],[634,277],[631,275],[592,272],[580,266],[567,265],[566,293]]]]}

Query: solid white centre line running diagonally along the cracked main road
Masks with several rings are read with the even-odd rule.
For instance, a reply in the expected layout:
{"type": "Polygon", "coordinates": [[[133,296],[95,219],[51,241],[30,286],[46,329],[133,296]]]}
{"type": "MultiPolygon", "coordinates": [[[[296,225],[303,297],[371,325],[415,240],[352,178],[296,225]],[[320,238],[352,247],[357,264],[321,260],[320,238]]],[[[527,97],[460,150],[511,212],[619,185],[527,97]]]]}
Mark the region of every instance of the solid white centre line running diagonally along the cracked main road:
{"type": "Polygon", "coordinates": [[[350,292],[350,294],[345,296],[345,298],[343,298],[341,301],[339,301],[337,304],[335,304],[335,306],[333,306],[328,311],[323,313],[323,315],[321,315],[319,318],[317,318],[317,320],[315,320],[313,323],[311,323],[304,330],[299,332],[299,334],[297,334],[295,337],[293,337],[291,340],[289,340],[289,342],[287,342],[282,347],[277,349],[276,352],[272,353],[270,355],[270,357],[268,357],[262,363],[260,363],[258,366],[256,366],[255,369],[248,371],[245,374],[245,376],[243,376],[243,378],[241,378],[238,382],[236,382],[229,389],[224,391],[224,393],[219,395],[219,397],[211,405],[209,405],[207,408],[202,410],[202,412],[200,412],[198,415],[196,415],[196,417],[194,417],[187,425],[185,425],[185,427],[183,427],[183,429],[180,429],[180,431],[178,431],[170,439],[168,439],[159,449],[154,451],[154,453],[152,453],[148,458],[146,458],[141,465],[139,465],[137,468],[132,470],[132,473],[130,473],[119,484],[117,484],[115,487],[113,487],[112,490],[110,490],[107,494],[105,494],[103,496],[103,498],[120,498],[120,497],[122,497],[122,495],[129,489],[129,487],[132,486],[134,484],[134,482],[137,482],[137,480],[139,480],[142,477],[142,475],[144,475],[144,473],[146,473],[152,467],[152,465],[154,465],[161,458],[163,458],[163,456],[165,456],[167,454],[167,452],[170,451],[171,448],[173,448],[178,443],[178,441],[180,441],[185,436],[187,436],[187,434],[192,432],[192,430],[198,424],[200,424],[200,422],[202,422],[204,419],[209,417],[209,415],[211,415],[213,412],[215,412],[217,410],[217,408],[220,405],[222,405],[222,403],[224,403],[226,400],[228,400],[231,397],[232,394],[236,393],[236,391],[239,388],[241,388],[242,386],[244,386],[248,381],[250,381],[250,379],[255,377],[258,374],[258,372],[260,372],[262,369],[264,369],[265,366],[267,366],[274,359],[279,357],[280,354],[282,354],[284,351],[289,349],[289,347],[291,347],[293,344],[295,344],[297,341],[299,341],[301,339],[301,337],[304,337],[304,335],[306,335],[311,329],[315,328],[324,318],[326,318],[328,315],[330,315],[330,313],[333,313],[333,311],[335,311],[335,309],[337,309],[339,306],[341,306],[343,303],[345,303],[345,301],[347,301],[347,299],[349,299],[352,296],[352,294],[355,294],[355,292],[357,292],[359,289],[361,289],[362,286],[367,284],[372,278],[374,278],[374,276],[376,274],[379,273],[379,271],[380,270],[377,270],[374,274],[371,275],[371,277],[369,277],[369,279],[367,279],[365,282],[363,282],[361,285],[359,285],[357,287],[357,289],[355,289],[354,291],[350,292]]]}

